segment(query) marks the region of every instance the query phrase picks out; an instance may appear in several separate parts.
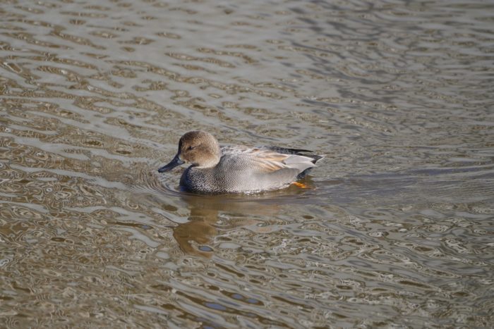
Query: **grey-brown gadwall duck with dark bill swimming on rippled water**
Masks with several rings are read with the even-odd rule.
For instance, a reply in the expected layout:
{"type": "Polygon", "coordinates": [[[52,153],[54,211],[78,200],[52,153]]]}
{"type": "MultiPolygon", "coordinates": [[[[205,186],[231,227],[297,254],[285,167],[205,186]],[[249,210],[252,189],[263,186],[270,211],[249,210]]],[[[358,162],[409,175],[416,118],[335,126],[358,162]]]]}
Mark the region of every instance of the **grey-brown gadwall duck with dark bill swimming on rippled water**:
{"type": "Polygon", "coordinates": [[[282,147],[219,147],[208,132],[183,135],[179,151],[159,173],[183,163],[191,163],[182,174],[180,185],[198,193],[252,193],[287,187],[302,178],[323,156],[303,149],[282,147]]]}

